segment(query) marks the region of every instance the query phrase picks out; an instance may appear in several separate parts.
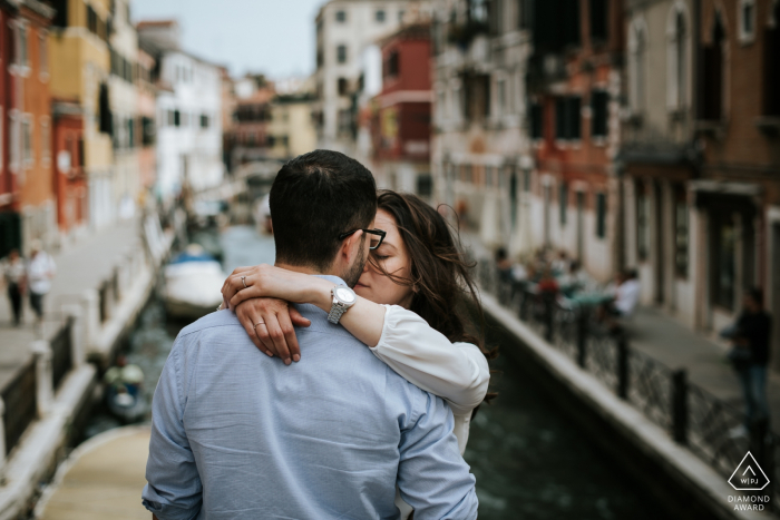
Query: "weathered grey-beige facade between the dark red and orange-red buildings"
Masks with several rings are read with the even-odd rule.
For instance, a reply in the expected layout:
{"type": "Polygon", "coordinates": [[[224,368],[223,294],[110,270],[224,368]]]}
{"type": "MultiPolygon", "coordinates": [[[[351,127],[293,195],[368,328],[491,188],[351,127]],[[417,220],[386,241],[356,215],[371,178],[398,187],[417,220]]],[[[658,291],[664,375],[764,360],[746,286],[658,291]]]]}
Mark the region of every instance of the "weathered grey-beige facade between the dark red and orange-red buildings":
{"type": "Polygon", "coordinates": [[[488,247],[529,251],[532,147],[526,131],[530,52],[523,2],[436,2],[435,199],[488,247]]]}

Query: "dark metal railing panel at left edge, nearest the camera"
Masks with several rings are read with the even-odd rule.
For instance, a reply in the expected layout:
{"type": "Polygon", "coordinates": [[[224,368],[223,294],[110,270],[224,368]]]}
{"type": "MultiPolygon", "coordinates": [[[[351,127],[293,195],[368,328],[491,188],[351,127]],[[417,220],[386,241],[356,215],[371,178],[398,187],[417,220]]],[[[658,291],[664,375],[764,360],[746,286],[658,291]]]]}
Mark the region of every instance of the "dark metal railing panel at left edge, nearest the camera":
{"type": "Polygon", "coordinates": [[[27,426],[38,415],[37,394],[36,360],[30,359],[2,391],[6,404],[2,418],[6,426],[6,454],[17,445],[27,426]]]}

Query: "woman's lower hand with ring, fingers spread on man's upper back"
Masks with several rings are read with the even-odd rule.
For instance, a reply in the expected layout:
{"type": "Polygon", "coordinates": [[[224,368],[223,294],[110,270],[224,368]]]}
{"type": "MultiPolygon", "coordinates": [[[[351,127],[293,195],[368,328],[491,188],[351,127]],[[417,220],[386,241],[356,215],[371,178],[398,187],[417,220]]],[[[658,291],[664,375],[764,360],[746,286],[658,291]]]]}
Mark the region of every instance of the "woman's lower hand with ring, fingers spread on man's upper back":
{"type": "MultiPolygon", "coordinates": [[[[248,285],[248,284],[247,284],[248,285]]],[[[257,349],[290,364],[301,360],[301,349],[293,325],[309,326],[311,322],[287,302],[277,298],[252,298],[235,307],[235,315],[257,349]]]]}

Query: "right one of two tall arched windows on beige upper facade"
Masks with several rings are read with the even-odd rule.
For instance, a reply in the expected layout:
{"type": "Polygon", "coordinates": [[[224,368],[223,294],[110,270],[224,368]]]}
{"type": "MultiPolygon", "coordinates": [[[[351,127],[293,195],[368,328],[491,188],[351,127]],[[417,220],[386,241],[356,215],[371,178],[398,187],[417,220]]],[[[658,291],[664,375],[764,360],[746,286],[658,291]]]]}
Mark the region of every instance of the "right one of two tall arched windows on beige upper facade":
{"type": "Polygon", "coordinates": [[[688,58],[688,20],[685,8],[677,3],[670,12],[666,26],[669,45],[666,48],[667,88],[666,100],[670,110],[683,110],[688,107],[689,58],[688,58]]]}

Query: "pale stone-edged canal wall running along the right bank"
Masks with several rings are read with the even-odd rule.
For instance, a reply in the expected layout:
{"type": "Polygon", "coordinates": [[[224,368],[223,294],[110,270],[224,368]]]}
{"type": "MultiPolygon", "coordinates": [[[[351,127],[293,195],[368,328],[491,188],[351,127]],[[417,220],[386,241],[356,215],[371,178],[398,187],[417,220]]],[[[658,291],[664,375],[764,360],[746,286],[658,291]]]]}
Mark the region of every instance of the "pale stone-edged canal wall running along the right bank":
{"type": "MultiPolygon", "coordinates": [[[[671,518],[777,518],[769,512],[735,510],[729,497],[740,493],[729,485],[728,477],[694,454],[686,443],[675,442],[669,430],[647,416],[646,410],[632,404],[628,389],[621,392],[617,379],[612,381],[614,386],[605,385],[602,377],[577,363],[576,352],[546,341],[539,327],[519,320],[515,310],[499,304],[494,295],[482,292],[482,304],[489,325],[515,340],[501,342],[513,345],[503,354],[526,366],[535,383],[574,419],[583,436],[592,439],[605,457],[652,493],[671,518]]],[[[564,332],[560,322],[553,325],[559,328],[556,333],[564,332]]],[[[617,357],[605,364],[616,369],[621,364],[617,357]]],[[[666,393],[663,384],[651,383],[659,399],[672,408],[672,393],[666,393]]]]}

